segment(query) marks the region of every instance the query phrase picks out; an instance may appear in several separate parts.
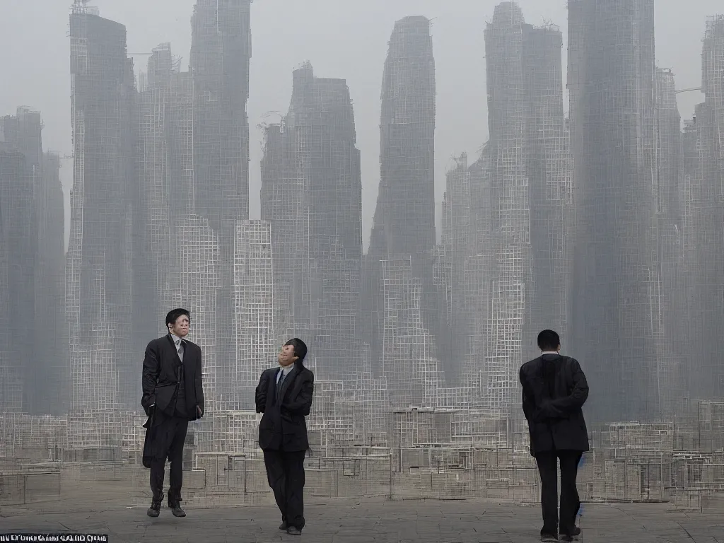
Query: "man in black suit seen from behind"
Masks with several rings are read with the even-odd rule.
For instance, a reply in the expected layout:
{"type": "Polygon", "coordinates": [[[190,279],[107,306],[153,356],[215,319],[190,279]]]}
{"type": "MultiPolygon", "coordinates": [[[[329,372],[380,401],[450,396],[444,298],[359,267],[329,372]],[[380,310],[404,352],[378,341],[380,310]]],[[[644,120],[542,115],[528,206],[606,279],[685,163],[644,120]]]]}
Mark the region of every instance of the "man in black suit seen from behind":
{"type": "Polygon", "coordinates": [[[560,338],[552,330],[538,334],[541,355],[523,364],[523,413],[528,420],[531,455],[541,476],[541,541],[557,541],[557,460],[560,459],[560,534],[573,541],[578,500],[576,475],[581,455],[589,450],[583,408],[589,395],[586,376],[575,358],[560,355],[560,338]]]}

